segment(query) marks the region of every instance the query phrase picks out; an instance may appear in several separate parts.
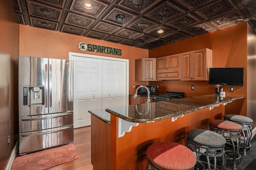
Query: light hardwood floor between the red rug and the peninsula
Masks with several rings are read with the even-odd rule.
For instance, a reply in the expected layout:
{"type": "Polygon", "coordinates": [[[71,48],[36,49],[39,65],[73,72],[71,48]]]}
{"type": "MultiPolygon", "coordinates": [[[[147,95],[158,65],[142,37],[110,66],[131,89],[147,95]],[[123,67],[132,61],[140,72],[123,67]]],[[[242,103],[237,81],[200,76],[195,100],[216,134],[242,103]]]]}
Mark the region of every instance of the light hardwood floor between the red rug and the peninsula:
{"type": "Polygon", "coordinates": [[[78,159],[54,166],[47,170],[92,170],[90,126],[74,129],[74,147],[78,153],[78,159]]]}

